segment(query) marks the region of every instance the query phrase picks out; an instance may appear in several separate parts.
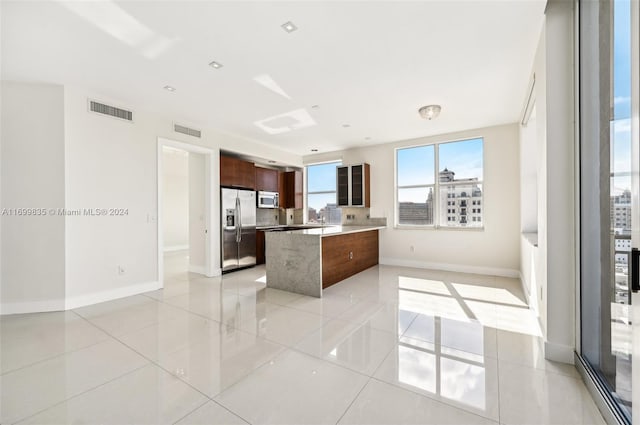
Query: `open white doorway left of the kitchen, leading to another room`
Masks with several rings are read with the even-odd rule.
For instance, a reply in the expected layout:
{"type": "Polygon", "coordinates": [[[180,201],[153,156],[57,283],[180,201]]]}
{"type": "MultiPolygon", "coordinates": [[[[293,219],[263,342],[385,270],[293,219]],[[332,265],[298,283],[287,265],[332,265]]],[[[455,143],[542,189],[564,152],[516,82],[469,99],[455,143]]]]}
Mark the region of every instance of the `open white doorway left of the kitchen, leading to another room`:
{"type": "MultiPolygon", "coordinates": [[[[185,282],[216,273],[212,246],[214,152],[158,139],[158,281],[185,282]]],[[[219,268],[218,268],[219,270],[219,268]]]]}

